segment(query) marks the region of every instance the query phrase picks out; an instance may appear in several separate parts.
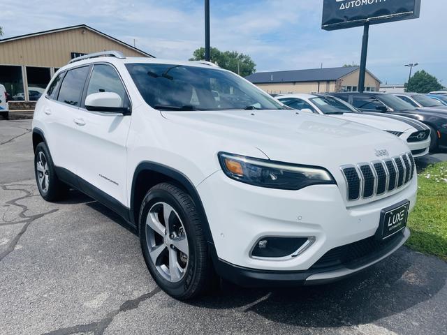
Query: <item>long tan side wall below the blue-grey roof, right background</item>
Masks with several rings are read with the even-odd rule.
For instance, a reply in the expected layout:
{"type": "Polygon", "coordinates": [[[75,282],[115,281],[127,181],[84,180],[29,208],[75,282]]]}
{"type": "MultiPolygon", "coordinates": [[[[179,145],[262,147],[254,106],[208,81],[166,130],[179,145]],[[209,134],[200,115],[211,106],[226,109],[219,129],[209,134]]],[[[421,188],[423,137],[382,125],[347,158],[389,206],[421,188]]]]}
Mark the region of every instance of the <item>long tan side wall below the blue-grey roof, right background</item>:
{"type": "MultiPolygon", "coordinates": [[[[268,83],[256,84],[269,94],[287,94],[287,93],[316,93],[318,92],[318,82],[286,82],[286,83],[268,83]]],[[[319,92],[334,92],[335,81],[320,82],[319,92]]]]}

